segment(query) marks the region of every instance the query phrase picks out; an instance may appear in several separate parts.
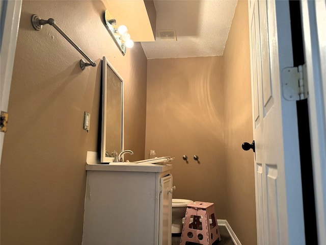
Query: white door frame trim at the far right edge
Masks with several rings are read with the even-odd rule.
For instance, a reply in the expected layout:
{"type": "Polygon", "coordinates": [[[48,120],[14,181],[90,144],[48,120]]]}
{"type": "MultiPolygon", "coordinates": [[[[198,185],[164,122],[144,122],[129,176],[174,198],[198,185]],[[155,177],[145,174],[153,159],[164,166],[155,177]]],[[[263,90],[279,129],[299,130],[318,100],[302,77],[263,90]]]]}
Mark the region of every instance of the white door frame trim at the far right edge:
{"type": "Polygon", "coordinates": [[[326,1],[301,2],[318,244],[326,244],[326,1]]]}

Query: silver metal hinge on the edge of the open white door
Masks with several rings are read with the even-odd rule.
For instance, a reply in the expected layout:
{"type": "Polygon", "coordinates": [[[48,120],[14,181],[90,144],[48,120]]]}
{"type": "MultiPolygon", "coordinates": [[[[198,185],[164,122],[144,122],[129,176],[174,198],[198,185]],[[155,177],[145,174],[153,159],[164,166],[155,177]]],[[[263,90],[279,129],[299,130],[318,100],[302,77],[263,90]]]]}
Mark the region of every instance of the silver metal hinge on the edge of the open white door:
{"type": "Polygon", "coordinates": [[[287,101],[301,101],[308,97],[307,66],[286,67],[282,70],[282,91],[287,101]]]}

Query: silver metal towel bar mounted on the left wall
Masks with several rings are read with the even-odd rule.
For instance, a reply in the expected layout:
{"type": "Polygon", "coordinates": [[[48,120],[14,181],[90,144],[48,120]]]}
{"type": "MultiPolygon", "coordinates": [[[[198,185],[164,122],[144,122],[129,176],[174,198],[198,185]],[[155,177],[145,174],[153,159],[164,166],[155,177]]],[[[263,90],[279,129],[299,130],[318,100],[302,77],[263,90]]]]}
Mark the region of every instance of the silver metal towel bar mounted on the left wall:
{"type": "Polygon", "coordinates": [[[64,38],[66,38],[66,40],[68,42],[70,42],[70,44],[76,48],[76,50],[85,57],[85,59],[87,59],[90,63],[86,63],[85,60],[80,60],[79,65],[80,68],[82,68],[82,70],[84,70],[87,66],[96,66],[96,63],[91,60],[90,57],[87,56],[87,54],[84,53],[84,51],[77,46],[77,44],[71,40],[71,38],[63,31],[61,30],[61,28],[56,24],[56,21],[52,18],[49,18],[48,20],[45,19],[40,19],[39,16],[37,16],[36,14],[32,15],[32,26],[34,27],[34,29],[36,31],[40,31],[43,27],[44,24],[49,24],[50,26],[54,27],[64,38]]]}

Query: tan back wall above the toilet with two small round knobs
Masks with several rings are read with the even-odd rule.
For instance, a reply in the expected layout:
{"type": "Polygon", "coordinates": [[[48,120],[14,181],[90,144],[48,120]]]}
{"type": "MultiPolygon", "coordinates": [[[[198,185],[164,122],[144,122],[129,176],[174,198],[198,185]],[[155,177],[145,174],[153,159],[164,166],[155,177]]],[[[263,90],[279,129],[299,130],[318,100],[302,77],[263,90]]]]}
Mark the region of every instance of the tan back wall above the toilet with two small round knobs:
{"type": "Polygon", "coordinates": [[[216,56],[148,60],[145,154],[154,149],[157,156],[175,157],[173,198],[213,202],[217,218],[223,219],[222,61],[216,56]]]}

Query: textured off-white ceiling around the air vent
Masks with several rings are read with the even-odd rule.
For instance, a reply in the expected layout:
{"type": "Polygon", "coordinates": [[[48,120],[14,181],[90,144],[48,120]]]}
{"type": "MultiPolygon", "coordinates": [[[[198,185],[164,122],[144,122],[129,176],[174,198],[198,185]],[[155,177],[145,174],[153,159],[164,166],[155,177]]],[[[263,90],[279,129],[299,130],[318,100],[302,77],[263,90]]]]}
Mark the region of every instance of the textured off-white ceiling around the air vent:
{"type": "Polygon", "coordinates": [[[237,0],[154,0],[156,31],[177,40],[141,42],[147,59],[222,56],[237,0]]]}

